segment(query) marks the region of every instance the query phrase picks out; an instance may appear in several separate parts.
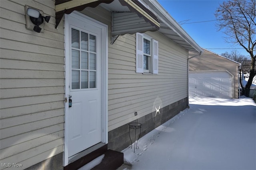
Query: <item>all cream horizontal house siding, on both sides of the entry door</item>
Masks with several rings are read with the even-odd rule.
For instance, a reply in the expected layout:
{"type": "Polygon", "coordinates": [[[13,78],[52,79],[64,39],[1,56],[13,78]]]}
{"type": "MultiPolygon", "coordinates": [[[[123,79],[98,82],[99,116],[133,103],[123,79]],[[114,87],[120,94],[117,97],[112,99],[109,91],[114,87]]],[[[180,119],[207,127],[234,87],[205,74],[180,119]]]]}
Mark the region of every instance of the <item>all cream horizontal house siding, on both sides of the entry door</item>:
{"type": "MultiPolygon", "coordinates": [[[[22,168],[63,152],[64,29],[63,22],[55,29],[55,2],[42,2],[3,0],[0,7],[1,162],[22,168]],[[25,5],[51,16],[44,33],[25,29],[25,5]]],[[[111,45],[111,12],[98,6],[81,13],[108,25],[108,131],[187,97],[186,49],[146,32],[158,41],[158,74],[137,74],[136,34],[111,45]]]]}

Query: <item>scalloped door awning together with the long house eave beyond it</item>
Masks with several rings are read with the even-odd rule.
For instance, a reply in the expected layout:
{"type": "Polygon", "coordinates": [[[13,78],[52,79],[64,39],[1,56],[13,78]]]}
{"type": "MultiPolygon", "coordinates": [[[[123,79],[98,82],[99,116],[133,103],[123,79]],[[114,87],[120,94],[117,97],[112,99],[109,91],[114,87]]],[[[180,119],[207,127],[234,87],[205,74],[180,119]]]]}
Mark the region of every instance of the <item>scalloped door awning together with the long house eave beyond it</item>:
{"type": "Polygon", "coordinates": [[[119,35],[158,30],[188,51],[204,52],[156,0],[56,0],[56,28],[64,14],[98,5],[112,12],[112,43],[119,35]]]}

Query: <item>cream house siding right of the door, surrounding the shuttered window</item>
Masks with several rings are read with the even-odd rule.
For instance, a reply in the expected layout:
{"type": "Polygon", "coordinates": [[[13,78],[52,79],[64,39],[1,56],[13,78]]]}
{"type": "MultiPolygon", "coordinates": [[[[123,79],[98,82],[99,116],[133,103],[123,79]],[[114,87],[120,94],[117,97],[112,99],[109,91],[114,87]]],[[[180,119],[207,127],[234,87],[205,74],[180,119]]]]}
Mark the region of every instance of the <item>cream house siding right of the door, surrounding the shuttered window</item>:
{"type": "Polygon", "coordinates": [[[146,34],[158,41],[158,75],[136,73],[136,34],[109,46],[109,131],[187,97],[188,51],[158,32],[146,34]]]}

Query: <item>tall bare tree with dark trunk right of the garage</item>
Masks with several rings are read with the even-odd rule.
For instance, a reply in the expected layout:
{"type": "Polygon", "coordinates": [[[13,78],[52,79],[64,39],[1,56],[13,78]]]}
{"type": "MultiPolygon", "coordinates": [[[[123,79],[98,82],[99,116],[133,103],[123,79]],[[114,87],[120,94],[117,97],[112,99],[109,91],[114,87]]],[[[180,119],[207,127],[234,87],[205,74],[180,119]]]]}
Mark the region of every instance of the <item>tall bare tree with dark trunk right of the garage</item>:
{"type": "Polygon", "coordinates": [[[218,30],[222,30],[226,42],[241,45],[251,58],[250,77],[245,86],[245,96],[249,96],[253,77],[256,75],[256,0],[224,1],[215,12],[218,30]]]}

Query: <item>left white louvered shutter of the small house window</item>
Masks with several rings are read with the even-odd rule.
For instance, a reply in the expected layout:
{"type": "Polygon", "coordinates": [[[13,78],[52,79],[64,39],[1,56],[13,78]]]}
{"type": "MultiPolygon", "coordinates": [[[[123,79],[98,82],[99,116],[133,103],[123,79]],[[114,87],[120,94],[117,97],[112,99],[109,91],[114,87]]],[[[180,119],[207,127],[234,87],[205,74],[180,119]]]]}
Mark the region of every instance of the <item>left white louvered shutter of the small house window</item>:
{"type": "Polygon", "coordinates": [[[136,73],[143,73],[143,34],[136,33],[136,73]]]}

